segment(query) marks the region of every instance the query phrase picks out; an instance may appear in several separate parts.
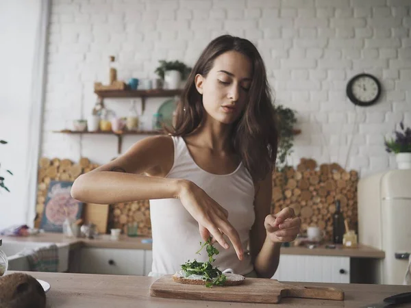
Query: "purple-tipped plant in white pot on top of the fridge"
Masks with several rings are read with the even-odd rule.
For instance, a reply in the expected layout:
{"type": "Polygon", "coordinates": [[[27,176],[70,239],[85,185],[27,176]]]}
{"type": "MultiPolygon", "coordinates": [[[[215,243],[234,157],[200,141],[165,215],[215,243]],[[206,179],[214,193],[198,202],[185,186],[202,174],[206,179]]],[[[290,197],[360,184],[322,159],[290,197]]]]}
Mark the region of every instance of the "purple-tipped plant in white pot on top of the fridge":
{"type": "Polygon", "coordinates": [[[388,153],[395,153],[399,169],[411,169],[411,128],[404,127],[402,121],[399,127],[401,131],[394,131],[395,138],[384,138],[384,144],[388,153]]]}

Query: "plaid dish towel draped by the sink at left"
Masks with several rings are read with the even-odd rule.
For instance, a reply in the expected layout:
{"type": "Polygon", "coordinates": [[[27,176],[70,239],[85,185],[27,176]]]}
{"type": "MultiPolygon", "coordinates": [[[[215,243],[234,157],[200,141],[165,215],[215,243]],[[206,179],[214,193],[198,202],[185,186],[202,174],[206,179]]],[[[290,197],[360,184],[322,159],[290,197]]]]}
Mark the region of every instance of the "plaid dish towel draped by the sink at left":
{"type": "Polygon", "coordinates": [[[58,272],[58,246],[27,249],[21,253],[27,257],[30,270],[34,272],[58,272]]]}

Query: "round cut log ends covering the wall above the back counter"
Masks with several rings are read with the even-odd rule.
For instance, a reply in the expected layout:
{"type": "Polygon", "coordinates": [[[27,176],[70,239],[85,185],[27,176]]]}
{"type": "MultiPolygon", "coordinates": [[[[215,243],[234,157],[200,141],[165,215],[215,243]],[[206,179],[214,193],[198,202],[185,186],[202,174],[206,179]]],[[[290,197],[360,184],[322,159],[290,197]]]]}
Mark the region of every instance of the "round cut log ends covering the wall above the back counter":
{"type": "MultiPolygon", "coordinates": [[[[99,165],[87,158],[78,164],[70,159],[42,157],[38,170],[38,192],[35,226],[40,225],[50,181],[74,181],[99,165]]],[[[332,237],[332,215],[336,201],[351,229],[357,230],[357,184],[358,172],[347,172],[338,164],[322,164],[317,168],[313,159],[301,159],[297,169],[287,167],[273,174],[271,210],[277,213],[284,207],[292,207],[301,217],[301,231],[309,226],[318,226],[325,231],[325,240],[332,237]]],[[[138,222],[138,234],[151,235],[149,201],[134,201],[110,205],[108,226],[127,232],[127,224],[138,222]]]]}

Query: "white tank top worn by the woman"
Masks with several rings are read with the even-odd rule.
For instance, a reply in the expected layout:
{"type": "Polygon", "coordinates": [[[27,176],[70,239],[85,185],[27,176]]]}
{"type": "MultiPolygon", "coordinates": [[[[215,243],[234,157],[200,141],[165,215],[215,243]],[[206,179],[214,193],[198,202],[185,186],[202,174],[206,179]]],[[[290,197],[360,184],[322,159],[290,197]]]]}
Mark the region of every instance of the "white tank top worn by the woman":
{"type": "MultiPolygon", "coordinates": [[[[210,197],[228,211],[228,220],[240,235],[243,251],[247,251],[249,231],[255,220],[254,185],[247,168],[240,163],[228,175],[214,175],[201,169],[192,159],[186,142],[181,137],[172,137],[174,143],[174,163],[166,178],[188,179],[202,188],[210,197]]],[[[150,200],[151,231],[153,237],[153,264],[151,271],[157,274],[174,274],[181,270],[186,261],[208,261],[206,249],[196,254],[203,242],[199,224],[192,218],[179,199],[150,200]]],[[[240,261],[232,242],[225,240],[229,249],[219,243],[214,266],[220,270],[232,268],[236,274],[253,271],[251,257],[244,255],[240,261]]]]}

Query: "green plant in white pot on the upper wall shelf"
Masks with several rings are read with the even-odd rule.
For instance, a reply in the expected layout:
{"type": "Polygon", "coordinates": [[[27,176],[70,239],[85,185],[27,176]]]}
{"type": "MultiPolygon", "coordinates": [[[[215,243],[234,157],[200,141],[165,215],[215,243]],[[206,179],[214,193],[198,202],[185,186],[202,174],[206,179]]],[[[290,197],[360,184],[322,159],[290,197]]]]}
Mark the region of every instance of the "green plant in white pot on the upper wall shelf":
{"type": "Polygon", "coordinates": [[[188,77],[191,68],[183,62],[160,60],[160,65],[155,69],[155,73],[164,80],[165,88],[170,90],[178,89],[182,80],[188,77]]]}

